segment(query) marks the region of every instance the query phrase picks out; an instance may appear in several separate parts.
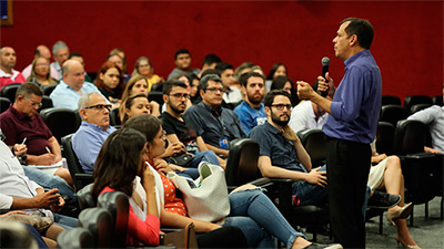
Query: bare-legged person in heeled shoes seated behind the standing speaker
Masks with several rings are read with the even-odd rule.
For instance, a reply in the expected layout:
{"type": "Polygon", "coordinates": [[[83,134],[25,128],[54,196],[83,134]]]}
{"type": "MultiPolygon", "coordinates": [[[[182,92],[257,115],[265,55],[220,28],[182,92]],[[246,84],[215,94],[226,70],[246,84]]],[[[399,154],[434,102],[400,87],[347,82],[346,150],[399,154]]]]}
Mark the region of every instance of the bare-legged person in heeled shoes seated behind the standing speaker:
{"type": "Polygon", "coordinates": [[[407,228],[405,218],[410,216],[413,209],[412,203],[404,205],[404,177],[401,170],[401,162],[397,156],[386,156],[376,153],[376,141],[372,143],[372,164],[370,168],[367,185],[372,190],[385,189],[389,194],[401,195],[401,201],[387,210],[387,220],[396,226],[397,232],[395,240],[404,248],[420,248],[407,228]]]}

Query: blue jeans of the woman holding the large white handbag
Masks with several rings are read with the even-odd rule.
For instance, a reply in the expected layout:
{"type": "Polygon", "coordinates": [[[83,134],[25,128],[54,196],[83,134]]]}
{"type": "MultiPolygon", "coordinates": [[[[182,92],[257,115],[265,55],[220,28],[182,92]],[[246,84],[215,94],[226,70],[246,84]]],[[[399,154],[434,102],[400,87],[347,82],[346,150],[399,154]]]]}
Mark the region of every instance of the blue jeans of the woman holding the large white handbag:
{"type": "Polygon", "coordinates": [[[259,189],[248,189],[230,194],[230,216],[224,225],[242,229],[251,247],[275,248],[270,235],[293,246],[296,237],[306,237],[294,230],[274,204],[259,189]]]}

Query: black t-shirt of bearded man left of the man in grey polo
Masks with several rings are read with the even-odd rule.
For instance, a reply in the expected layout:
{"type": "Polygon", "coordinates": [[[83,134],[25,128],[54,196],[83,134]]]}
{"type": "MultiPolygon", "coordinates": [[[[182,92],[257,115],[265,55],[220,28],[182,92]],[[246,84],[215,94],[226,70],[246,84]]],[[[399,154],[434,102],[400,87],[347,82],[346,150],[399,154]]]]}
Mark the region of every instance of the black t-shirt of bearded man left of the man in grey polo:
{"type": "Polygon", "coordinates": [[[182,122],[171,116],[167,112],[163,112],[159,117],[162,120],[162,127],[167,132],[167,135],[175,134],[179,141],[185,145],[188,153],[195,154],[196,152],[199,152],[199,146],[196,143],[198,135],[192,128],[191,121],[185,121],[184,118],[184,121],[182,122]]]}

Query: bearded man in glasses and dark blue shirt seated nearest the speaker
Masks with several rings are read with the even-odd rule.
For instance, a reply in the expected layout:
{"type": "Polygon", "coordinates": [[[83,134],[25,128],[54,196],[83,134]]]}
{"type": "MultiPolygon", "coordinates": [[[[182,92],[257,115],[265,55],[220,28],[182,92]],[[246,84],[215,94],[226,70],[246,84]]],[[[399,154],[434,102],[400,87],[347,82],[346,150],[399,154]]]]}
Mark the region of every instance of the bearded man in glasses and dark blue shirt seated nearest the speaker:
{"type": "MultiPolygon", "coordinates": [[[[268,122],[254,127],[250,137],[260,145],[259,169],[264,177],[292,179],[295,205],[316,205],[327,200],[326,166],[312,169],[310,155],[297,135],[287,125],[291,113],[290,94],[273,90],[264,98],[268,122]]],[[[370,191],[370,188],[367,188],[370,191]]],[[[401,196],[374,191],[369,206],[391,208],[401,196]]],[[[364,209],[365,210],[365,209],[364,209]]]]}

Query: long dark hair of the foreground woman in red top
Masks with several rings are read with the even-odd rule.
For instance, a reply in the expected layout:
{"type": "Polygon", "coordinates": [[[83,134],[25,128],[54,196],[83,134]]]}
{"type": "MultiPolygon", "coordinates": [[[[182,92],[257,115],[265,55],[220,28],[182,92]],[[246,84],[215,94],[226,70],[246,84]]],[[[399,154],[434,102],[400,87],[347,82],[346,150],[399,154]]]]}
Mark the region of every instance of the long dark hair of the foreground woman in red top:
{"type": "Polygon", "coordinates": [[[132,128],[121,128],[108,136],[95,160],[92,174],[92,196],[98,197],[104,187],[132,195],[145,136],[132,128]]]}

